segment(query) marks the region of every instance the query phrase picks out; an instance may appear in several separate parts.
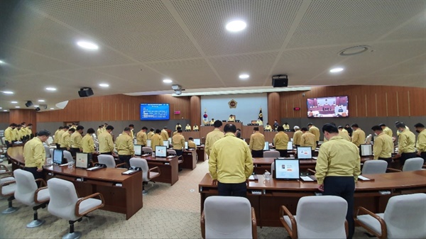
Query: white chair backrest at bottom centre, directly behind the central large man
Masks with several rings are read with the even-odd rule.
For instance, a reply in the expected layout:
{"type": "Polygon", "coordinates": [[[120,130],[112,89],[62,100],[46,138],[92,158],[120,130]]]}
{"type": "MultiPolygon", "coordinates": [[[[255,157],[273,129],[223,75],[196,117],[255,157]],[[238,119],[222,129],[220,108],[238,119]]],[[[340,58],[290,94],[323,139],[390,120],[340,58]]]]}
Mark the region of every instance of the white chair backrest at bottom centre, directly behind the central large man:
{"type": "Polygon", "coordinates": [[[204,201],[206,238],[252,238],[251,205],[239,196],[209,196],[204,201]]]}

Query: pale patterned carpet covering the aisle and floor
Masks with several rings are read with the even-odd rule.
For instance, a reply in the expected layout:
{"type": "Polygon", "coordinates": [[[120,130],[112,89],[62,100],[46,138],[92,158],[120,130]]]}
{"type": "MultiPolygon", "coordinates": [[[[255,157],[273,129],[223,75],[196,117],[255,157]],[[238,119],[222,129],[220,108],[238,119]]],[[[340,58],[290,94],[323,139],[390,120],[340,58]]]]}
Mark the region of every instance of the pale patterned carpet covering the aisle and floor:
{"type": "MultiPolygon", "coordinates": [[[[148,184],[143,208],[128,221],[124,214],[97,210],[89,214],[90,218],[75,223],[75,230],[82,232],[82,238],[201,238],[198,183],[206,172],[208,161],[198,162],[192,171],[183,169],[173,187],[148,184]]],[[[43,226],[26,228],[33,219],[31,207],[17,201],[13,201],[13,206],[19,210],[0,214],[0,238],[62,238],[69,229],[67,221],[50,215],[47,209],[38,210],[38,218],[46,221],[43,226]]],[[[7,200],[0,199],[0,211],[6,208],[7,200]]],[[[258,238],[287,237],[284,228],[258,228],[258,238]]],[[[356,228],[356,238],[368,237],[364,230],[356,228]]]]}

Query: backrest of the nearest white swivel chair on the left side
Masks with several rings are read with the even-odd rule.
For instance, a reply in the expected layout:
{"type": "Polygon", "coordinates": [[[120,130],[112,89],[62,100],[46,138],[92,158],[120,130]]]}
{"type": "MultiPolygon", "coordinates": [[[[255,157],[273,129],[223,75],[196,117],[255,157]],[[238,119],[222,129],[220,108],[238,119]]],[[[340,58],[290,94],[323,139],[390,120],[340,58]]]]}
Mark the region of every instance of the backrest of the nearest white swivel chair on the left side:
{"type": "Polygon", "coordinates": [[[49,179],[48,189],[50,194],[48,211],[54,216],[75,220],[75,204],[78,196],[74,184],[54,177],[49,179]]]}

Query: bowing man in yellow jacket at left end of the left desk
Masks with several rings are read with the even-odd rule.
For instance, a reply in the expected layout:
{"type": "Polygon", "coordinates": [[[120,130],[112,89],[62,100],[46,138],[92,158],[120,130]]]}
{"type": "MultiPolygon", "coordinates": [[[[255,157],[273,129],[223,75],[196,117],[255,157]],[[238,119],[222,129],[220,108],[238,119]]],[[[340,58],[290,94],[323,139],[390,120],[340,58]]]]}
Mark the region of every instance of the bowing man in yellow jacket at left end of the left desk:
{"type": "Polygon", "coordinates": [[[37,137],[29,140],[23,145],[23,158],[25,159],[24,170],[31,172],[34,179],[43,178],[43,165],[46,160],[46,152],[43,145],[45,140],[48,140],[50,132],[41,130],[37,133],[37,137]]]}

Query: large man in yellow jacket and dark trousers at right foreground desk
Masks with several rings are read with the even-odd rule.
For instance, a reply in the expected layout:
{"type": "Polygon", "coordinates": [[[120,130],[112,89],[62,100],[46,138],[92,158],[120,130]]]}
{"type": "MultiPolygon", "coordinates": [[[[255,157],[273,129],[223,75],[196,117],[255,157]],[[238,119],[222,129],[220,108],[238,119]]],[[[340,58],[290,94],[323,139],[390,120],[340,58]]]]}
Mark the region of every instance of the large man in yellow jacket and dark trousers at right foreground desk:
{"type": "Polygon", "coordinates": [[[322,126],[324,138],[318,153],[315,177],[318,189],[323,195],[341,196],[348,203],[346,221],[349,235],[354,235],[354,191],[355,183],[361,173],[361,157],[359,148],[339,136],[336,126],[326,123],[322,126]]]}

